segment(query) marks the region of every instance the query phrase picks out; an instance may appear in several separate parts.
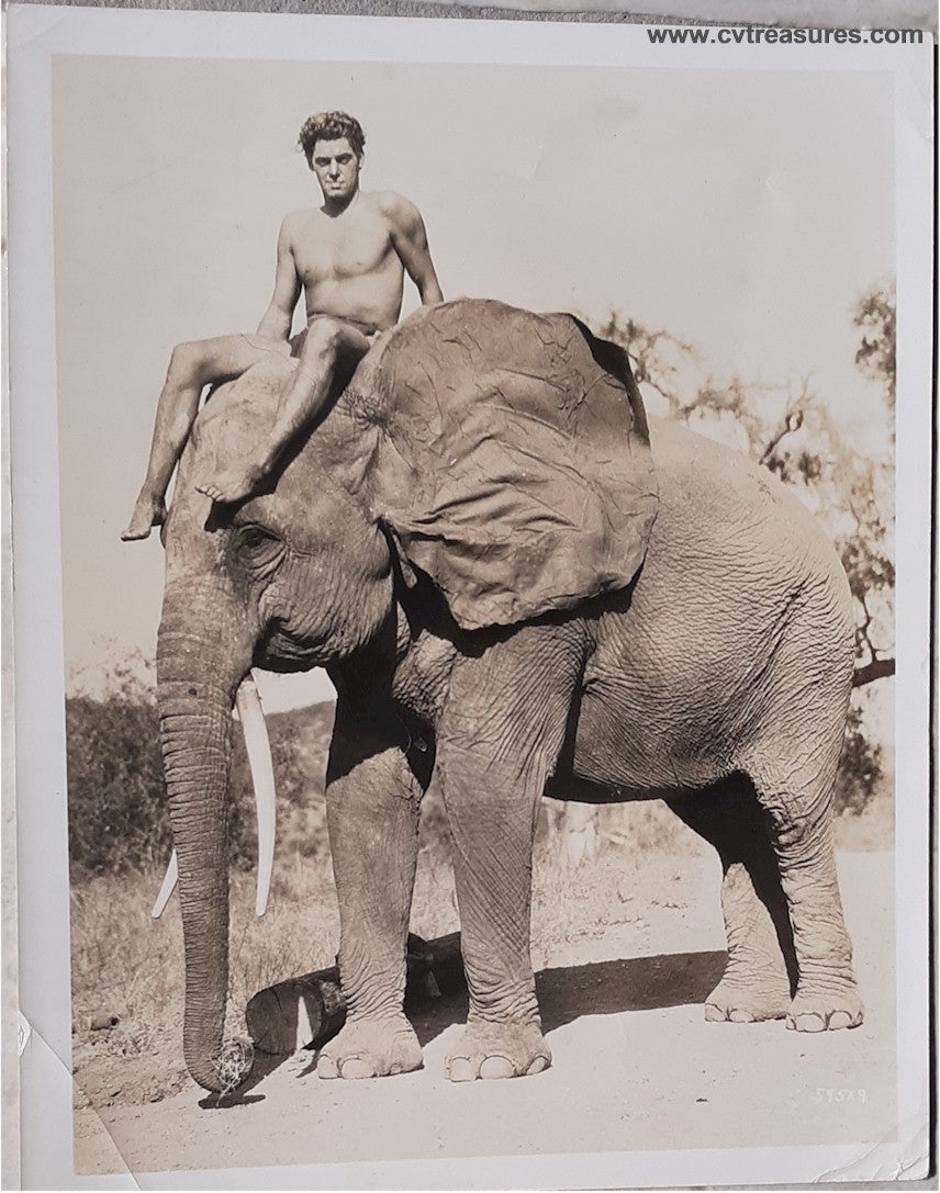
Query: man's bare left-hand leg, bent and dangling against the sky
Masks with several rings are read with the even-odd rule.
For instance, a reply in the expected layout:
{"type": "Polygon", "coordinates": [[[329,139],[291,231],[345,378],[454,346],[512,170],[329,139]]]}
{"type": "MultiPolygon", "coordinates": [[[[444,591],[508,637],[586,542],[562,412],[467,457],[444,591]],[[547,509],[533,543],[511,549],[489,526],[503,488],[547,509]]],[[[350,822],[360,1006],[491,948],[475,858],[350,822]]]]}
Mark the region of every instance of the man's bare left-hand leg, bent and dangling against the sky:
{"type": "Polygon", "coordinates": [[[147,475],[121,536],[125,542],[147,538],[166,518],[166,489],[198,412],[203,388],[240,376],[270,352],[289,356],[290,345],[259,335],[220,335],[173,348],[156,404],[147,475]]]}

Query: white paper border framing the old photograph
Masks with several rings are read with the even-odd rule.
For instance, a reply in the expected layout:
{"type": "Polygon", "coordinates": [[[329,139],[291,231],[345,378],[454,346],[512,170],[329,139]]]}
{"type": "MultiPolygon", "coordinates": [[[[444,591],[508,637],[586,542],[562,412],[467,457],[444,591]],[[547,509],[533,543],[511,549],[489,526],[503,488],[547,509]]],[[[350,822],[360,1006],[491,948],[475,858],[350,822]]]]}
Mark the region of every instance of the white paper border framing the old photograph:
{"type": "MultiPolygon", "coordinates": [[[[929,38],[926,38],[929,41],[929,38]]],[[[8,327],[20,1010],[26,1187],[137,1188],[143,1174],[72,1175],[68,849],[60,557],[51,181],[56,55],[517,64],[597,63],[747,70],[748,47],[671,47],[641,26],[344,18],[11,6],[7,11],[8,327]],[[313,23],[313,24],[312,24],[313,23]],[[307,47],[301,54],[300,45],[307,47]]],[[[897,186],[897,866],[898,1138],[858,1146],[486,1157],[460,1161],[467,1186],[613,1187],[877,1179],[926,1174],[929,1061],[928,863],[932,528],[932,47],[779,48],[775,69],[887,70],[895,81],[897,186]],[[922,1148],[917,1144],[922,1133],[922,1148]],[[865,1160],[865,1172],[858,1163],[865,1160]]],[[[454,1160],[162,1174],[160,1187],[441,1187],[454,1160]]]]}

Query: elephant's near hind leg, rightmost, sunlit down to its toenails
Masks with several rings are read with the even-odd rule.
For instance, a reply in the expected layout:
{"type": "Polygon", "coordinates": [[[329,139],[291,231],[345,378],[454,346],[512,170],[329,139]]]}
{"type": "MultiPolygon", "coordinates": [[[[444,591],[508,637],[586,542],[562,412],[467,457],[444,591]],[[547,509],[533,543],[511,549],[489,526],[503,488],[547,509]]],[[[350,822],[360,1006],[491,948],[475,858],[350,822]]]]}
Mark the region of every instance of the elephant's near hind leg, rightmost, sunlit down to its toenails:
{"type": "Polygon", "coordinates": [[[833,840],[838,750],[818,747],[805,742],[805,752],[790,765],[762,755],[749,767],[770,824],[793,929],[798,981],[787,1027],[804,1032],[856,1027],[864,1015],[833,840]]]}

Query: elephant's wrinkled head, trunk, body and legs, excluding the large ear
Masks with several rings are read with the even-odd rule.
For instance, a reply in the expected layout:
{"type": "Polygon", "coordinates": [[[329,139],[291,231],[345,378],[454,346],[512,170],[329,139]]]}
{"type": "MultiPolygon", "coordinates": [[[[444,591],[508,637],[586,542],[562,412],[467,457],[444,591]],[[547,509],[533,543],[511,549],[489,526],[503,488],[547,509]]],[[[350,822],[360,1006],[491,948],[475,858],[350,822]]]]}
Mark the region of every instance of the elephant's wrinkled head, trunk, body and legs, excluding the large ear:
{"type": "Polygon", "coordinates": [[[718,848],[730,960],[709,1019],[854,1026],[831,796],[852,682],[833,548],[769,474],[669,422],[650,428],[659,512],[632,587],[504,629],[457,628],[370,512],[363,425],[340,400],[276,487],[236,509],[192,488],[274,416],[284,360],[221,389],[183,460],[158,648],[186,950],[184,1051],[220,1088],[225,805],[250,666],[328,668],[327,815],[349,1020],[321,1076],[420,1064],[403,1014],[418,811],[450,820],[469,1020],[453,1080],[549,1062],[529,958],[539,798],[664,796],[718,848]],[[769,832],[768,832],[769,830],[769,832]]]}

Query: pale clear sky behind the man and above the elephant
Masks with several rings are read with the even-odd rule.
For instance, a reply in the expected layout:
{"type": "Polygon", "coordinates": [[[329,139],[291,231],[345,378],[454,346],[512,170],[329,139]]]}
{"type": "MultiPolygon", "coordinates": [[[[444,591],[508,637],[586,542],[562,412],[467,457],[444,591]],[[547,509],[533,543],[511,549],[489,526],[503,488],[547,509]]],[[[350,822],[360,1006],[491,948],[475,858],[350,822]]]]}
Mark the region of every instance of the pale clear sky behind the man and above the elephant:
{"type": "Polygon", "coordinates": [[[597,323],[613,308],[690,340],[719,373],[812,375],[864,425],[878,395],[853,365],[850,310],[895,268],[890,86],[849,72],[56,60],[68,665],[153,654],[161,549],[118,533],[168,353],[257,326],[282,216],[319,203],[294,148],[311,112],[360,118],[363,187],[418,204],[446,297],[597,323]]]}

